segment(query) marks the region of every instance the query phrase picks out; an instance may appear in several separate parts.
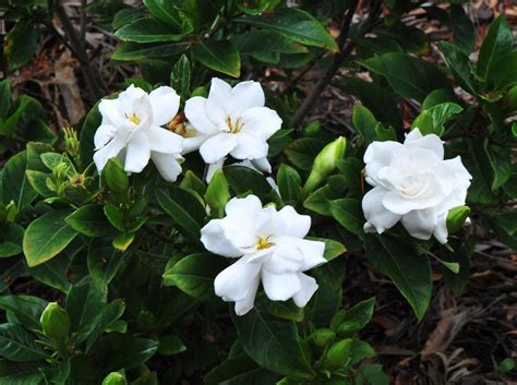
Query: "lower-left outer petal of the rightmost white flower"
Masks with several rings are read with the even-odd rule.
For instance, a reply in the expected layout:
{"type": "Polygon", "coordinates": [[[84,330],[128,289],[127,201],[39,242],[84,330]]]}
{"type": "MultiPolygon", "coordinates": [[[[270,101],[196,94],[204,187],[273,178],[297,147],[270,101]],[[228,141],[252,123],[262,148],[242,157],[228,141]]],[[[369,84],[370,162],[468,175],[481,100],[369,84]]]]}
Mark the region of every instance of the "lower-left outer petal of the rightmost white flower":
{"type": "Polygon", "coordinates": [[[383,205],[383,197],[387,193],[381,187],[373,188],[362,198],[362,210],[368,224],[378,233],[392,228],[400,219],[400,215],[387,210],[383,205]]]}

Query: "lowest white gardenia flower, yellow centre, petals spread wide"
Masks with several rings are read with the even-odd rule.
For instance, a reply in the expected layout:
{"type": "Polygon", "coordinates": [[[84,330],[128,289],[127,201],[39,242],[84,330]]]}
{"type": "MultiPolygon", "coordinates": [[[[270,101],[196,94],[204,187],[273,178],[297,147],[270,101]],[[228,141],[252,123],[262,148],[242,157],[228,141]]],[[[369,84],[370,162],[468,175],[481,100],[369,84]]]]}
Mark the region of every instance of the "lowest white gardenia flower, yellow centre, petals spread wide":
{"type": "Polygon", "coordinates": [[[243,315],[253,309],[262,280],[270,300],[292,298],[303,308],[317,284],[302,272],[326,262],[325,243],[303,239],[310,228],[311,217],[291,206],[263,208],[255,195],[232,198],[226,205],[226,217],[211,220],[201,230],[208,251],[238,257],[216,277],[216,294],[236,302],[236,313],[243,315]]]}

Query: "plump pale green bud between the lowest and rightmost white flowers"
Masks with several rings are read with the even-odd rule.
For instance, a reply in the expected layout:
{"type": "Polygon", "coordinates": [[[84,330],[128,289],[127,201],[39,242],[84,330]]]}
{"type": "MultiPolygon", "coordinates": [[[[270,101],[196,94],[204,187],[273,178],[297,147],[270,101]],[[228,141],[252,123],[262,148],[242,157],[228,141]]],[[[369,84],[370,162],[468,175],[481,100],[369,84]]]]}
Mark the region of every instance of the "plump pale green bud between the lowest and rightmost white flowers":
{"type": "Polygon", "coordinates": [[[317,154],[312,165],[311,173],[303,187],[305,196],[314,191],[317,185],[336,169],[338,161],[345,156],[346,147],[346,139],[339,136],[334,142],[327,144],[320,154],[317,154]]]}

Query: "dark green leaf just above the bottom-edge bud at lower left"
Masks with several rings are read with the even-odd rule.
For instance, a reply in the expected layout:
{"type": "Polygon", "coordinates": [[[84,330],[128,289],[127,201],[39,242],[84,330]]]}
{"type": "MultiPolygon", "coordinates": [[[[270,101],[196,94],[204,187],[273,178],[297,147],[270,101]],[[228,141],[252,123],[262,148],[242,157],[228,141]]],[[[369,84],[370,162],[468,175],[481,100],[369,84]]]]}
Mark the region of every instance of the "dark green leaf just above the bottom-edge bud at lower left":
{"type": "Polygon", "coordinates": [[[158,341],[154,339],[110,333],[107,340],[110,353],[106,366],[109,371],[136,368],[158,351],[158,341]]]}

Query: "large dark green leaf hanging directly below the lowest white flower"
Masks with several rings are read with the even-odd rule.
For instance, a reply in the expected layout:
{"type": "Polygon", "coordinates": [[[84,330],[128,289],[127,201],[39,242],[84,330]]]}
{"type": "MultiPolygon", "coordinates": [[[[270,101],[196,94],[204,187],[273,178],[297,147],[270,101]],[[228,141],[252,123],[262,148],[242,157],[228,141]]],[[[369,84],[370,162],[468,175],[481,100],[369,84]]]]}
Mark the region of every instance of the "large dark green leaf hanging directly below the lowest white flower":
{"type": "Polygon", "coordinates": [[[232,320],[242,348],[261,366],[294,378],[315,377],[292,321],[270,315],[261,303],[255,304],[245,315],[237,316],[232,313],[232,320]]]}

